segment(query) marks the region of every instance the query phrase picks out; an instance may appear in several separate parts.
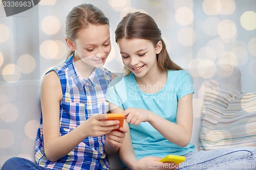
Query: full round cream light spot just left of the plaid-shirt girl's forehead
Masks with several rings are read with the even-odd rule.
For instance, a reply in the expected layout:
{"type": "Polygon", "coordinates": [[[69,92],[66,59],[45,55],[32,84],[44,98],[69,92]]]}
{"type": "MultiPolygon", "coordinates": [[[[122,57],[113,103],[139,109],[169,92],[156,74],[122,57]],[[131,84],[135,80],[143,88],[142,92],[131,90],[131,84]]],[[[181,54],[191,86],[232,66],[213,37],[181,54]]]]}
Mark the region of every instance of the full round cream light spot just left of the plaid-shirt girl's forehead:
{"type": "Polygon", "coordinates": [[[41,21],[41,29],[48,35],[56,34],[60,30],[60,21],[56,16],[46,16],[41,21]]]}

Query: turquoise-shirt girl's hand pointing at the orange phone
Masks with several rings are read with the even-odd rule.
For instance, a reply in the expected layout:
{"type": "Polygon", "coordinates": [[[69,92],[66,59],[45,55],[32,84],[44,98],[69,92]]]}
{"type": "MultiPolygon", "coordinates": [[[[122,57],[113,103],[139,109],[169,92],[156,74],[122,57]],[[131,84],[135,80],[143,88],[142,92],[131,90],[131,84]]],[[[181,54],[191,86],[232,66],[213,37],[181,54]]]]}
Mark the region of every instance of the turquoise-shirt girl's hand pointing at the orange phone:
{"type": "Polygon", "coordinates": [[[145,109],[128,108],[124,110],[124,115],[126,117],[126,122],[134,125],[139,125],[141,122],[149,122],[151,111],[145,109]]]}

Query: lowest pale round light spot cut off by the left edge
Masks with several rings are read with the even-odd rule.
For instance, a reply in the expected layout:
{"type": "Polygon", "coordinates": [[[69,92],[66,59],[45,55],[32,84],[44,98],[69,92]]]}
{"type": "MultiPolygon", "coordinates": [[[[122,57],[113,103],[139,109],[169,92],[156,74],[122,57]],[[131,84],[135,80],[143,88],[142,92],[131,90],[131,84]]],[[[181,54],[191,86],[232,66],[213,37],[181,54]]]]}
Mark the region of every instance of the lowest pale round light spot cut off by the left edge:
{"type": "Polygon", "coordinates": [[[0,148],[10,148],[14,142],[14,135],[8,129],[0,129],[0,148]]]}

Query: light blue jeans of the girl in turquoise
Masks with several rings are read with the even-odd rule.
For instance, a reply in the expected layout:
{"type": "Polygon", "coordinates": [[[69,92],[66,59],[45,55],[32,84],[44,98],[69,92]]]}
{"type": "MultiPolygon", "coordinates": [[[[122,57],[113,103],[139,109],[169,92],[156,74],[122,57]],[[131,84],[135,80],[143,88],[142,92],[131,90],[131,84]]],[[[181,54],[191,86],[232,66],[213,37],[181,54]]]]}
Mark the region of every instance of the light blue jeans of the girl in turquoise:
{"type": "Polygon", "coordinates": [[[183,156],[186,157],[186,161],[180,164],[180,170],[256,169],[256,147],[198,151],[183,156]]]}

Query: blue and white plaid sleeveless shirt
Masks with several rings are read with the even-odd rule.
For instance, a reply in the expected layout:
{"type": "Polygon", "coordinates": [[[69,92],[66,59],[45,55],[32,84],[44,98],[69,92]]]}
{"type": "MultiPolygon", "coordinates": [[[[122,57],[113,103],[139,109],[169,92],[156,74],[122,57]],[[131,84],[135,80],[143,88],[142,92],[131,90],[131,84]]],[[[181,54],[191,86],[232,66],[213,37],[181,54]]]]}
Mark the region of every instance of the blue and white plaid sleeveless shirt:
{"type": "MultiPolygon", "coordinates": [[[[111,81],[110,71],[96,68],[90,77],[84,80],[74,66],[73,55],[50,71],[55,71],[59,76],[63,93],[59,105],[60,136],[69,133],[93,114],[109,111],[109,104],[104,95],[111,81]]],[[[104,141],[104,135],[87,137],[68,155],[51,162],[44,152],[41,117],[36,137],[36,162],[51,169],[109,169],[109,161],[104,153],[104,141]]]]}

